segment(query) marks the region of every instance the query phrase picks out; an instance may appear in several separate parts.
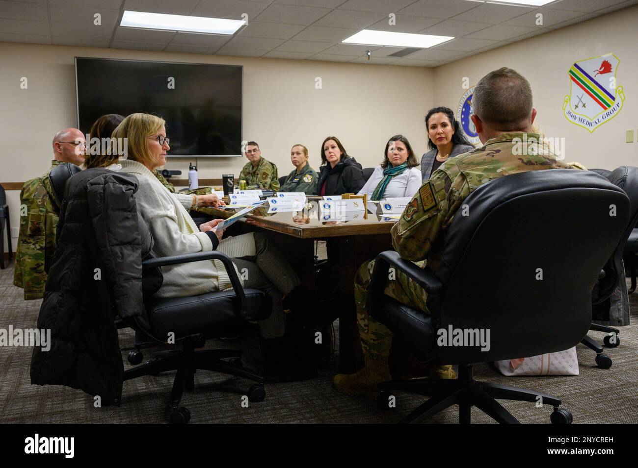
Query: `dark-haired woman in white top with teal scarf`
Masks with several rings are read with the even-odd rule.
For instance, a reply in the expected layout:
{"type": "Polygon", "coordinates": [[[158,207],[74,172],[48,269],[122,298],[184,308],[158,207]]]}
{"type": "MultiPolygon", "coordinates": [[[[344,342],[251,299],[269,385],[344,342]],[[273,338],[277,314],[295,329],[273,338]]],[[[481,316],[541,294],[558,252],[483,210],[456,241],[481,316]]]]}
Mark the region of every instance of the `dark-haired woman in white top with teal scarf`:
{"type": "Polygon", "coordinates": [[[421,171],[417,166],[419,161],[408,139],[395,135],[386,143],[381,165],[375,168],[359,195],[367,194],[372,201],[412,198],[421,186],[421,171]]]}

